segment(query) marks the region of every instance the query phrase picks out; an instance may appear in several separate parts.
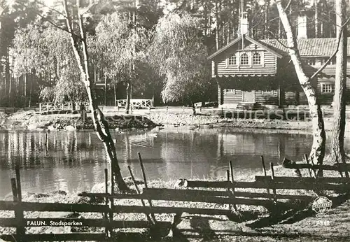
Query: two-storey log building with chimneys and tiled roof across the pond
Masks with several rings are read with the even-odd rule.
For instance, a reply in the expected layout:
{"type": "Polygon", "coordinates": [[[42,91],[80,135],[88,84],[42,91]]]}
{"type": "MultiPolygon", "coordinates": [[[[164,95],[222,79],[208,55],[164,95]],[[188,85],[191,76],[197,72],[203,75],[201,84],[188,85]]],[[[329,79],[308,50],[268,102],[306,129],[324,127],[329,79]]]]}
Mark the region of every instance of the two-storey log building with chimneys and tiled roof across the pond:
{"type": "MultiPolygon", "coordinates": [[[[307,75],[312,76],[337,49],[336,38],[307,38],[307,18],[298,17],[297,46],[307,75]]],[[[348,43],[350,42],[350,38],[348,43]]],[[[208,57],[211,77],[218,85],[218,104],[224,108],[307,105],[286,39],[256,40],[248,36],[246,13],[240,17],[239,36],[208,57]]],[[[348,62],[350,62],[348,44],[348,62]]],[[[348,71],[348,76],[350,70],[348,71]]],[[[318,102],[330,106],[335,90],[335,59],[313,79],[318,102]]],[[[346,87],[349,90],[350,78],[346,87]]],[[[346,95],[350,102],[350,95],[346,95]]]]}

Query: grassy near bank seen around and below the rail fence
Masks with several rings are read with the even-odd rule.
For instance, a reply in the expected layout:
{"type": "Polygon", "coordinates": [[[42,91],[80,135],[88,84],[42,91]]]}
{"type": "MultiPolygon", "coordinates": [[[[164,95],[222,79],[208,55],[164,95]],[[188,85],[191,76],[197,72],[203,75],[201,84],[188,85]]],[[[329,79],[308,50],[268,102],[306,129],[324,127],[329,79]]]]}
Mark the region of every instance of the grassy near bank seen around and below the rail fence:
{"type": "MultiPolygon", "coordinates": [[[[268,171],[269,172],[269,171],[268,171]]],[[[306,171],[302,172],[303,176],[308,176],[306,171]]],[[[235,180],[254,180],[254,176],[262,175],[262,173],[235,173],[235,180]]],[[[293,170],[283,169],[281,166],[275,167],[275,176],[295,176],[293,170]]],[[[325,176],[339,176],[335,172],[327,172],[325,176]]],[[[125,178],[131,189],[134,190],[130,178],[125,178]]],[[[212,178],[212,180],[226,180],[225,178],[212,178]]],[[[176,180],[162,181],[153,180],[149,183],[149,187],[154,188],[173,188],[176,180]]],[[[144,185],[140,182],[140,187],[144,185]]],[[[181,188],[179,188],[181,189],[181,188]]],[[[249,191],[247,189],[239,189],[239,191],[249,191]]],[[[93,188],[93,192],[104,192],[104,185],[99,184],[93,188]]],[[[256,190],[255,190],[256,192],[256,190]]],[[[282,191],[279,191],[282,192],[282,191]]],[[[290,190],[290,194],[311,194],[314,192],[304,190],[290,190]]],[[[67,194],[66,192],[50,192],[48,194],[26,194],[23,201],[39,201],[39,202],[62,202],[62,203],[98,203],[98,201],[90,201],[78,197],[77,194],[67,194]]],[[[103,202],[102,202],[103,204],[103,202]]],[[[116,204],[137,205],[141,206],[141,202],[133,199],[120,199],[116,204]]],[[[204,204],[189,202],[173,202],[173,201],[154,201],[153,206],[197,206],[200,208],[223,208],[228,209],[227,204],[204,204]]],[[[225,216],[196,216],[183,215],[183,221],[178,225],[181,235],[177,235],[175,241],[349,241],[350,228],[350,203],[345,201],[340,206],[332,208],[329,215],[323,218],[317,218],[314,213],[304,216],[300,220],[292,223],[269,224],[269,213],[265,208],[260,206],[238,206],[238,210],[242,213],[248,212],[251,217],[246,217],[242,222],[232,222],[225,216]],[[253,227],[252,225],[258,220],[266,220],[266,226],[253,227]]],[[[0,217],[11,218],[13,213],[0,212],[0,217]]],[[[27,218],[38,218],[51,216],[61,218],[102,218],[99,213],[48,213],[48,212],[27,212],[27,218]]],[[[172,215],[156,215],[158,221],[171,221],[172,215]]],[[[146,220],[142,214],[116,214],[115,220],[146,220]]],[[[104,229],[96,229],[91,227],[30,227],[28,233],[70,233],[70,232],[103,232],[104,229]]],[[[0,234],[13,233],[13,229],[3,229],[0,227],[0,234]]],[[[135,232],[146,233],[144,229],[135,232]]],[[[134,241],[145,241],[146,237],[140,235],[134,241]]],[[[125,241],[132,241],[128,238],[125,241]]],[[[155,241],[155,240],[150,240],[155,241]]]]}

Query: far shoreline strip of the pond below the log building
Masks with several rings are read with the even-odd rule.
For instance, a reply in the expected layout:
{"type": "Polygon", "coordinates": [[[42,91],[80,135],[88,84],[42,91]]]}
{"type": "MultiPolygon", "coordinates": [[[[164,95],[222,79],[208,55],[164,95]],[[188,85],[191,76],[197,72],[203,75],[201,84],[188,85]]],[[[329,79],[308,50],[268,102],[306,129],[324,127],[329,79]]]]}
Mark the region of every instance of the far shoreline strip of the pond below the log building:
{"type": "MultiPolygon", "coordinates": [[[[33,111],[16,112],[10,115],[0,113],[0,129],[13,130],[45,130],[55,124],[76,129],[93,130],[91,114],[87,115],[85,124],[78,114],[50,114],[40,115],[33,111]],[[5,120],[5,121],[4,121],[5,120]],[[5,124],[7,123],[7,124],[5,124]]],[[[110,129],[153,129],[157,126],[181,127],[183,129],[195,128],[239,128],[239,129],[265,129],[280,131],[311,131],[312,125],[308,120],[281,120],[265,118],[221,118],[220,115],[191,115],[188,113],[145,113],[144,115],[125,115],[105,113],[110,129]]],[[[332,118],[324,118],[325,131],[332,130],[332,118]]],[[[55,129],[53,127],[52,129],[55,129]]],[[[346,125],[350,131],[350,125],[346,125]]]]}

